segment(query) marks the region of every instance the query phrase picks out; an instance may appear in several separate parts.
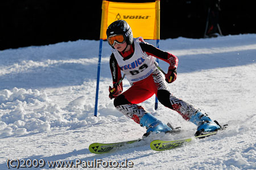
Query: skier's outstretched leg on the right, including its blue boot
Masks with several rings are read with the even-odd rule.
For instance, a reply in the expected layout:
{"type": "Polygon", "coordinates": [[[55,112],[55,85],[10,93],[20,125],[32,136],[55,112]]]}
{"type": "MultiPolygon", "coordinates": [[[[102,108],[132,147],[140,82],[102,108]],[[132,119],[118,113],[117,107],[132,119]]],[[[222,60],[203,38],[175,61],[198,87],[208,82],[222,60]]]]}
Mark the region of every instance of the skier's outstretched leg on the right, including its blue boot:
{"type": "Polygon", "coordinates": [[[200,109],[173,96],[168,88],[164,74],[159,70],[154,72],[154,81],[158,84],[158,99],[164,106],[177,111],[185,120],[194,123],[197,126],[197,133],[200,131],[215,131],[220,128],[207,115],[200,112],[200,109]]]}

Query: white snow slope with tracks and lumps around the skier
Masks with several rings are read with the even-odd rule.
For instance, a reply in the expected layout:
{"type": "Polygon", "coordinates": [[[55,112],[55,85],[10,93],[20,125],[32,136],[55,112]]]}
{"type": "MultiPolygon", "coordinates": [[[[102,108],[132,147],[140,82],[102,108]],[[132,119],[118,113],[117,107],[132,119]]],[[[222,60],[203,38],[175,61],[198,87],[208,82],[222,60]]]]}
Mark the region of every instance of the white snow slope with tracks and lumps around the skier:
{"type": "MultiPolygon", "coordinates": [[[[163,152],[141,143],[110,154],[90,154],[90,143],[133,140],[145,132],[108,98],[112,48],[106,42],[98,117],[93,116],[98,44],[78,40],[0,51],[0,169],[7,169],[7,159],[129,160],[135,169],[256,169],[256,34],[160,40],[161,49],[179,57],[170,91],[229,124],[219,135],[163,152]]],[[[168,65],[160,61],[160,67],[167,71],[168,65]]],[[[129,88],[129,82],[124,80],[123,86],[129,88]]],[[[187,131],[176,138],[195,133],[195,125],[160,103],[154,110],[154,102],[152,97],[141,105],[164,123],[187,131]]],[[[53,168],[46,164],[44,169],[53,168]]]]}

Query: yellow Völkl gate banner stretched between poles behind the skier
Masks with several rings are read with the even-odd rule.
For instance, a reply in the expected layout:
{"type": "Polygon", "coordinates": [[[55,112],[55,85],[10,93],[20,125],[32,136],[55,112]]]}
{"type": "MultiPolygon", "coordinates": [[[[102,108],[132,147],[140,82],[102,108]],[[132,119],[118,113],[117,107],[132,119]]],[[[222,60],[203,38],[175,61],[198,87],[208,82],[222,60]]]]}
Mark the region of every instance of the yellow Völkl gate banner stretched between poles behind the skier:
{"type": "Polygon", "coordinates": [[[144,3],[102,1],[100,39],[106,39],[106,30],[115,20],[125,20],[134,38],[160,39],[160,1],[144,3]]]}

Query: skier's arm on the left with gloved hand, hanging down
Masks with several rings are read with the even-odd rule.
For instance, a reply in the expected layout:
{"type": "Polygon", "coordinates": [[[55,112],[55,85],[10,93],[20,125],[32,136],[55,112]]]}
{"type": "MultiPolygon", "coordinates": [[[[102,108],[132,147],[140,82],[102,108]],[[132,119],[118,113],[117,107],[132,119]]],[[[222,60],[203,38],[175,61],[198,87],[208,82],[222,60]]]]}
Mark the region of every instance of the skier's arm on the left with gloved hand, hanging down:
{"type": "Polygon", "coordinates": [[[109,98],[116,98],[118,97],[122,91],[123,91],[123,85],[122,82],[118,83],[119,80],[122,78],[121,69],[117,63],[117,60],[115,60],[114,54],[110,56],[109,60],[110,64],[110,71],[113,78],[113,88],[109,86],[109,98]]]}

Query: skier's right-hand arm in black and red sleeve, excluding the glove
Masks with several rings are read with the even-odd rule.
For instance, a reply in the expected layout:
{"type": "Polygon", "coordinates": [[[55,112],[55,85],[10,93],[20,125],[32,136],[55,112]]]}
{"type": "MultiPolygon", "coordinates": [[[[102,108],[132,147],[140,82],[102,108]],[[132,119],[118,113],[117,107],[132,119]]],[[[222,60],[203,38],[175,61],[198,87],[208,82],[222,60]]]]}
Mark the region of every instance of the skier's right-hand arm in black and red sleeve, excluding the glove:
{"type": "Polygon", "coordinates": [[[163,60],[169,63],[170,64],[169,69],[177,68],[179,59],[175,55],[172,55],[171,53],[166,51],[162,51],[161,49],[156,48],[153,45],[145,42],[141,42],[139,45],[141,45],[142,51],[146,52],[147,55],[154,56],[160,60],[163,60]]]}

